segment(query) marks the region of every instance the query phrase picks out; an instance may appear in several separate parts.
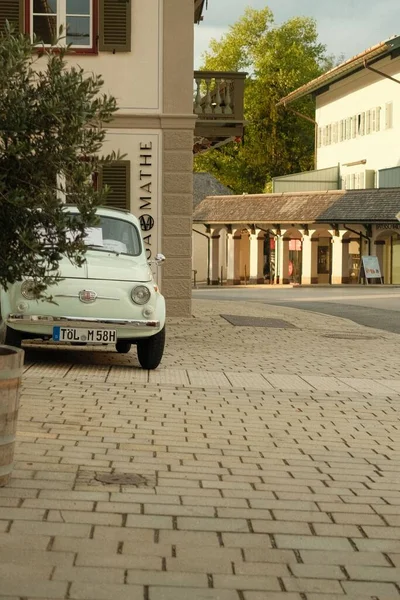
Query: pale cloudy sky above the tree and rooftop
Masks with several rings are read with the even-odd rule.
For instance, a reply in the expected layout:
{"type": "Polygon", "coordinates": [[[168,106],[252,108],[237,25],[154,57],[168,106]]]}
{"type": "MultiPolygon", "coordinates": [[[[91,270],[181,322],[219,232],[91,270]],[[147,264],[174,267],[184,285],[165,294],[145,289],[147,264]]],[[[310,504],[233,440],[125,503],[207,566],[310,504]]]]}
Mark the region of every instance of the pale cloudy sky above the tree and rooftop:
{"type": "Polygon", "coordinates": [[[291,17],[314,17],[320,43],[344,59],[400,35],[399,0],[208,0],[204,21],[195,27],[195,69],[210,39],[220,39],[247,6],[268,6],[277,25],[291,17]]]}

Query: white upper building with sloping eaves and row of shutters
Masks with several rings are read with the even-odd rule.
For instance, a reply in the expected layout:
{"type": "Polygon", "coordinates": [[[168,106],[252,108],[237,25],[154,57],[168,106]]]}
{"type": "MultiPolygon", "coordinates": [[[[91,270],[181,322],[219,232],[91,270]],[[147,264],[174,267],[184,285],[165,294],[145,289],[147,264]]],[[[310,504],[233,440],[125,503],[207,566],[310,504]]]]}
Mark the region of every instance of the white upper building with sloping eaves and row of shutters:
{"type": "Polygon", "coordinates": [[[340,187],[400,185],[400,37],[382,42],[295,90],[316,101],[316,168],[338,165],[340,187]],[[386,170],[394,169],[389,175],[386,170]],[[385,171],[382,173],[382,171],[385,171]]]}

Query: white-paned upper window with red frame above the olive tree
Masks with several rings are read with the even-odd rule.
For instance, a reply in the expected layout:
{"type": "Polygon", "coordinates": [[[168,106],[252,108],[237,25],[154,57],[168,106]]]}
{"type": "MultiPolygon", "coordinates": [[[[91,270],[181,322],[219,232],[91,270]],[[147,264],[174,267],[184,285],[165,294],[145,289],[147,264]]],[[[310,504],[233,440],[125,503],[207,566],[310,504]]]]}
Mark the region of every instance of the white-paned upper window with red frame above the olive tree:
{"type": "Polygon", "coordinates": [[[31,35],[51,46],[63,27],[61,44],[90,49],[94,45],[93,8],[93,0],[31,0],[31,35]]]}

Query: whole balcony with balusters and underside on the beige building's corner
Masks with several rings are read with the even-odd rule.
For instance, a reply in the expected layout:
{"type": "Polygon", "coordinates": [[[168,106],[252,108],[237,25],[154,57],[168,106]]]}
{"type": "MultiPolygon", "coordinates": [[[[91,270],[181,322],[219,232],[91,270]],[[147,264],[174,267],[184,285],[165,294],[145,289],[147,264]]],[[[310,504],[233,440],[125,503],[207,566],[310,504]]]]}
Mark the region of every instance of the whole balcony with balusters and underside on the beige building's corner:
{"type": "Polygon", "coordinates": [[[194,152],[217,148],[243,136],[247,73],[195,71],[193,112],[197,115],[194,152]]]}

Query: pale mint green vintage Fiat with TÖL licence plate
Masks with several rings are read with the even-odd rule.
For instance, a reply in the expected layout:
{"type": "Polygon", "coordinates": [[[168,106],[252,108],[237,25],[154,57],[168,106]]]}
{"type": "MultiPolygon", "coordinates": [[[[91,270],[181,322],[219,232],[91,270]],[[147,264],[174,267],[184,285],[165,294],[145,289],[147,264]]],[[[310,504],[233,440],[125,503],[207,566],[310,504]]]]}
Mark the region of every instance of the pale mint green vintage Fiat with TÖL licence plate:
{"type": "MultiPolygon", "coordinates": [[[[75,207],[67,211],[77,212],[75,207]]],[[[1,290],[0,343],[25,339],[77,346],[113,344],[121,353],[137,346],[140,365],[155,369],[165,344],[165,300],[149,264],[138,219],[127,211],[99,208],[99,224],[87,230],[82,267],[60,262],[63,278],[47,288],[53,302],[37,300],[32,282],[1,290]]],[[[158,254],[153,263],[160,264],[158,254]]]]}

